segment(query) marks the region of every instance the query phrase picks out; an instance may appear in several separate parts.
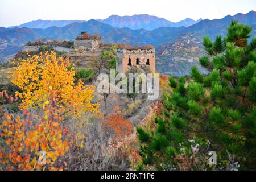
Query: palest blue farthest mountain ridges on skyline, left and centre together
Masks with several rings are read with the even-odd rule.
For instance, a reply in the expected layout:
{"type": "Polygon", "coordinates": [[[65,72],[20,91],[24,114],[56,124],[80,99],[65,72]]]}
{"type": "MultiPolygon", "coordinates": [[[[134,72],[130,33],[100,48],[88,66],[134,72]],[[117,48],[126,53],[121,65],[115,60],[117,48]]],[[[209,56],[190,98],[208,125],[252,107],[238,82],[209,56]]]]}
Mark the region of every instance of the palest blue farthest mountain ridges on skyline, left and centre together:
{"type": "MultiPolygon", "coordinates": [[[[189,27],[192,24],[200,22],[202,19],[197,21],[187,18],[180,22],[174,23],[170,22],[164,18],[158,18],[156,16],[151,16],[148,14],[140,14],[140,15],[133,15],[133,16],[118,16],[118,15],[111,15],[109,18],[106,19],[97,19],[97,21],[109,24],[110,26],[117,27],[117,28],[131,28],[133,30],[141,29],[144,30],[154,30],[155,28],[159,27],[189,27]]],[[[9,28],[49,28],[49,27],[64,27],[68,24],[72,23],[82,23],[86,22],[85,20],[36,20],[24,24],[20,24],[19,26],[12,26],[9,28]]]]}

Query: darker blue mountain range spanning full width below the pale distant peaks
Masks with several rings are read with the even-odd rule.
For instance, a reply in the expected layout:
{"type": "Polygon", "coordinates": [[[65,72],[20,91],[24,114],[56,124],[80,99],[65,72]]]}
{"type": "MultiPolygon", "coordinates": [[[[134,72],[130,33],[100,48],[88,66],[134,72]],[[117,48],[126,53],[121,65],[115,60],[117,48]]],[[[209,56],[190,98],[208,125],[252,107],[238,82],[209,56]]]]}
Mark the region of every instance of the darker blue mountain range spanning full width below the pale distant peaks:
{"type": "MultiPolygon", "coordinates": [[[[106,43],[129,43],[132,45],[143,46],[152,44],[156,48],[158,62],[167,63],[168,61],[183,61],[184,59],[194,62],[201,55],[201,41],[206,35],[214,39],[216,35],[224,36],[226,27],[232,20],[238,20],[241,23],[250,24],[253,27],[252,35],[256,35],[256,12],[250,11],[247,14],[236,14],[234,16],[225,16],[222,19],[205,19],[189,27],[159,27],[148,31],[143,28],[133,30],[131,28],[118,28],[109,24],[102,23],[99,20],[89,20],[87,22],[73,22],[64,27],[42,28],[3,28],[0,27],[0,61],[6,60],[6,57],[18,52],[28,41],[37,39],[51,38],[56,40],[73,40],[81,31],[87,31],[89,34],[100,34],[102,40],[106,43]],[[188,44],[193,39],[193,44],[188,44]],[[177,43],[177,44],[176,44],[177,43]],[[179,47],[177,47],[178,45],[179,47]],[[180,46],[181,45],[181,46],[180,46]],[[175,49],[186,48],[186,56],[177,56],[179,52],[175,49]],[[199,52],[189,53],[189,49],[196,49],[199,52]],[[167,54],[168,53],[168,54],[167,54]],[[177,58],[178,59],[174,59],[177,58]],[[181,57],[181,59],[179,59],[181,57]]],[[[156,65],[160,65],[156,63],[156,65]]],[[[163,67],[168,72],[169,67],[163,67]]],[[[183,67],[183,65],[182,65],[183,67]]]]}

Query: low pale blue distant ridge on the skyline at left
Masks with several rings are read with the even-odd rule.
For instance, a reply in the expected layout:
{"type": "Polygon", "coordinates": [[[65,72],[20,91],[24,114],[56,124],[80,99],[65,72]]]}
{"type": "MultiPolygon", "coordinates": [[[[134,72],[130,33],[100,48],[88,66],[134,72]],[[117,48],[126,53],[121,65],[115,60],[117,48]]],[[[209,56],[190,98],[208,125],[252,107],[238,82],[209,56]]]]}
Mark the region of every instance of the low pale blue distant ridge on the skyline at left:
{"type": "Polygon", "coordinates": [[[9,28],[49,28],[49,27],[64,27],[71,23],[82,23],[86,22],[85,20],[36,20],[24,24],[20,24],[19,26],[12,26],[9,28]]]}

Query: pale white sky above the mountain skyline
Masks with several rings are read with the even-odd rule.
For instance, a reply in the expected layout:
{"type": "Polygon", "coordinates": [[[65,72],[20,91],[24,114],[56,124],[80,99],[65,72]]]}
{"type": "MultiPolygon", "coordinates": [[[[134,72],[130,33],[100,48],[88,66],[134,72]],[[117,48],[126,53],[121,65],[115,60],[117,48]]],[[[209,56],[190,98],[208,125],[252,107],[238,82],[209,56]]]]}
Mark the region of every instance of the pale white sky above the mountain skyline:
{"type": "Polygon", "coordinates": [[[178,22],[256,11],[255,0],[0,0],[0,27],[32,20],[90,20],[150,14],[178,22]]]}

